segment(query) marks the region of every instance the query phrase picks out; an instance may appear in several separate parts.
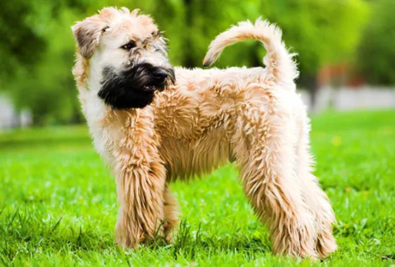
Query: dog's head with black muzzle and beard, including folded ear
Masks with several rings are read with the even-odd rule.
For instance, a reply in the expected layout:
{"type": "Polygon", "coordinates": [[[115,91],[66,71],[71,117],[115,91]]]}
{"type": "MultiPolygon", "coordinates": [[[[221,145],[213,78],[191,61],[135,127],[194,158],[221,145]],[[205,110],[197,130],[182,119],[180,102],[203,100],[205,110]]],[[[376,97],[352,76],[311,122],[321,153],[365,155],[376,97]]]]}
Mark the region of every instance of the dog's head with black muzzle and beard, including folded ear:
{"type": "Polygon", "coordinates": [[[89,60],[89,89],[115,109],[143,108],[175,79],[165,39],[138,12],[105,8],[72,27],[89,60]]]}

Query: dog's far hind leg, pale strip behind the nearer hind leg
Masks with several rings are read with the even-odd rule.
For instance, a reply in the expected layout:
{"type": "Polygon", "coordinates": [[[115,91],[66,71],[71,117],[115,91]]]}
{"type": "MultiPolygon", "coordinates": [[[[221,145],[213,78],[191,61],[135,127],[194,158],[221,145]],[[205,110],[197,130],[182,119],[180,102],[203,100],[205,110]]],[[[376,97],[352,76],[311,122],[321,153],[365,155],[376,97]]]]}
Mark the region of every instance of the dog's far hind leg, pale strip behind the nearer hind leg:
{"type": "Polygon", "coordinates": [[[309,121],[305,108],[300,102],[295,110],[298,114],[299,139],[297,142],[298,177],[303,184],[303,195],[310,208],[318,228],[316,250],[321,258],[326,257],[337,248],[332,235],[332,224],[336,223],[335,214],[326,193],[319,187],[318,179],[312,174],[314,161],[310,154],[309,121]]]}

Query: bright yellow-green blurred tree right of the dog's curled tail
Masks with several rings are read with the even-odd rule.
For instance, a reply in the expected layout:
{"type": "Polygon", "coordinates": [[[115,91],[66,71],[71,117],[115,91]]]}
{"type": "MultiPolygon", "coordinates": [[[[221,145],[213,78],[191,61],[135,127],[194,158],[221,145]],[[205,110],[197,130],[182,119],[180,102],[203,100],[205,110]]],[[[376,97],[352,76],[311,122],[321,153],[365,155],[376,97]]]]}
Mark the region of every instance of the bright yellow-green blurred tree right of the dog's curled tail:
{"type": "Polygon", "coordinates": [[[299,54],[298,85],[310,91],[314,105],[318,71],[355,56],[368,5],[362,0],[304,0],[287,1],[284,7],[288,16],[276,12],[274,21],[279,21],[286,42],[299,54]]]}

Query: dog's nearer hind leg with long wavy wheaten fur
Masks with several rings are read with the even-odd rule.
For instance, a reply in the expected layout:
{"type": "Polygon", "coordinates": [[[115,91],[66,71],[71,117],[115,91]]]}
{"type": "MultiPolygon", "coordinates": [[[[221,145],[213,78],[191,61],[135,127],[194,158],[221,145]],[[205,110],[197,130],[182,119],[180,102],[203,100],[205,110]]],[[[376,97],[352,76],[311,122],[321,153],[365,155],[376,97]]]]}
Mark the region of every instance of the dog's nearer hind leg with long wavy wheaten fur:
{"type": "Polygon", "coordinates": [[[317,258],[314,218],[303,202],[294,169],[294,124],[285,106],[246,104],[232,140],[244,190],[257,216],[270,229],[273,252],[317,258]]]}

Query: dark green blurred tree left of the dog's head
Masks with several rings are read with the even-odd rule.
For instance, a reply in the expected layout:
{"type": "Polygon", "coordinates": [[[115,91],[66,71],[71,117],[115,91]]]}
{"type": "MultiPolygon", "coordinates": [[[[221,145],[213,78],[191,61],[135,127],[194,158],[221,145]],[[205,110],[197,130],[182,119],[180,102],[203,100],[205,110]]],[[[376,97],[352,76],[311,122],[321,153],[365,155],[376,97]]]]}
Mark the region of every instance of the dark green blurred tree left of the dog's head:
{"type": "Polygon", "coordinates": [[[2,30],[13,41],[0,43],[0,54],[9,59],[3,66],[1,87],[17,108],[32,111],[34,124],[79,122],[82,118],[75,90],[71,90],[73,40],[62,34],[65,18],[70,17],[67,4],[6,2],[9,9],[2,14],[1,26],[7,25],[2,30]]]}

